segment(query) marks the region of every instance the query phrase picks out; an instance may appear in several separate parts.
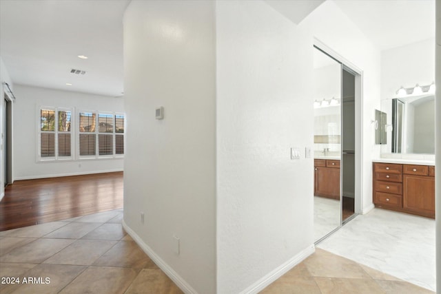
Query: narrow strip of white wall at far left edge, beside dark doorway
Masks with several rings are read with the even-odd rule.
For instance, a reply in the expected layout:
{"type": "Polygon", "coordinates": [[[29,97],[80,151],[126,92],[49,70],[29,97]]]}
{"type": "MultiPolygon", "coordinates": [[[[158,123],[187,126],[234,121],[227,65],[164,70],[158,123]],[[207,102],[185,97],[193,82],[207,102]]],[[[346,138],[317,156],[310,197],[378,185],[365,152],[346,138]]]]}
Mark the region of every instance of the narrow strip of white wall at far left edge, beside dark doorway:
{"type": "MultiPolygon", "coordinates": [[[[8,73],[8,69],[6,68],[5,63],[3,63],[3,59],[1,59],[0,56],[0,200],[5,195],[5,183],[4,180],[4,171],[5,171],[5,158],[4,158],[4,151],[3,151],[3,106],[5,98],[3,96],[4,92],[7,91],[7,87],[3,85],[3,82],[6,82],[10,85],[12,91],[13,91],[13,85],[11,78],[8,73]]],[[[12,105],[12,108],[14,106],[12,105]]]]}

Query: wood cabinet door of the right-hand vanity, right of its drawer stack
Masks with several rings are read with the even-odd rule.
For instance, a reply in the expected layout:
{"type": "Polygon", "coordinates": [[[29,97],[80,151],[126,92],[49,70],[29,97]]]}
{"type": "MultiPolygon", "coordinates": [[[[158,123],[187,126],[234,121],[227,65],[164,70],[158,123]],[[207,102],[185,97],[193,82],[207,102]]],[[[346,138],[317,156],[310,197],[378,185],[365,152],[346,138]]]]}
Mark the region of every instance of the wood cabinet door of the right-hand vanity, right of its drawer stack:
{"type": "Polygon", "coordinates": [[[422,216],[435,217],[435,179],[403,176],[403,208],[422,216]]]}

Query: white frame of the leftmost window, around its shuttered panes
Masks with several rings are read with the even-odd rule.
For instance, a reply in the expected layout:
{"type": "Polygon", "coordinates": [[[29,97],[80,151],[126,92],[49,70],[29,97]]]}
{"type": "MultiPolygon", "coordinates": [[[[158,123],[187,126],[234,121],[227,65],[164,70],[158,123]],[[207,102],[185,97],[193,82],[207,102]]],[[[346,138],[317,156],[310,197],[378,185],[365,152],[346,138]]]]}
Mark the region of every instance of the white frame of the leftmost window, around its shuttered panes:
{"type": "Polygon", "coordinates": [[[56,162],[56,161],[72,161],[74,160],[74,132],[72,129],[74,124],[75,109],[71,107],[54,107],[39,105],[37,107],[37,162],[56,162]],[[41,110],[53,110],[55,112],[54,131],[41,130],[41,110]],[[59,131],[59,112],[70,112],[70,131],[59,131]],[[41,134],[54,134],[54,156],[41,156],[41,134]],[[59,134],[70,134],[70,156],[59,156],[59,134]]]}

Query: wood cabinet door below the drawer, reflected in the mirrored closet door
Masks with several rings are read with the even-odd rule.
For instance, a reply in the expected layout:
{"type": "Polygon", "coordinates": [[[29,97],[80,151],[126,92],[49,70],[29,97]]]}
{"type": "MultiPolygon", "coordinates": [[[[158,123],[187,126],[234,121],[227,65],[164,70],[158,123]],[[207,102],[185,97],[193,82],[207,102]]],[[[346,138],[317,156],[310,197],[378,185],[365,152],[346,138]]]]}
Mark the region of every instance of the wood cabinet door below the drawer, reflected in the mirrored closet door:
{"type": "Polygon", "coordinates": [[[317,196],[340,199],[340,169],[316,167],[317,196]]]}

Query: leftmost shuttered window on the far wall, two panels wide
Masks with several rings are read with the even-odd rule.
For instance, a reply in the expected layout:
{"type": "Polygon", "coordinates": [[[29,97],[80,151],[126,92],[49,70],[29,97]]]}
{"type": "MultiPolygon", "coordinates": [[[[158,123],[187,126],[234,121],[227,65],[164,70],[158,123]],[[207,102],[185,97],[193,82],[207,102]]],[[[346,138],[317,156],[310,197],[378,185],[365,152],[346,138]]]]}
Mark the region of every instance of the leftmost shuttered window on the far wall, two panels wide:
{"type": "Polygon", "coordinates": [[[40,160],[72,158],[71,118],[72,111],[70,109],[40,108],[40,160]]]}

